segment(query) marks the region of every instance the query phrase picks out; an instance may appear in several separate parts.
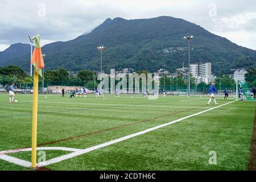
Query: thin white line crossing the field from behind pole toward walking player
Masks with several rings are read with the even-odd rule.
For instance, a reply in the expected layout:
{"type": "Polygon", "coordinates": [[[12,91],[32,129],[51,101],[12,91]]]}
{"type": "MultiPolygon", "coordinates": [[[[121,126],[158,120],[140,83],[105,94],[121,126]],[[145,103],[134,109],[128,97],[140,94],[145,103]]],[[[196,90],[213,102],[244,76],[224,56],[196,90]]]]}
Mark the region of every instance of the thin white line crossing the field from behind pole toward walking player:
{"type": "MultiPolygon", "coordinates": [[[[32,102],[32,101],[28,101],[32,102]]],[[[50,102],[50,101],[39,101],[39,103],[53,103],[53,104],[79,104],[79,105],[102,105],[102,106],[129,106],[129,107],[167,107],[167,108],[199,108],[208,109],[210,107],[195,107],[195,106],[152,106],[152,105],[125,105],[125,104],[97,104],[97,103],[79,103],[79,102],[50,102]]]]}

